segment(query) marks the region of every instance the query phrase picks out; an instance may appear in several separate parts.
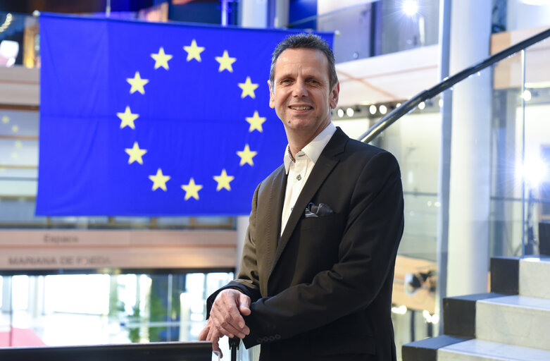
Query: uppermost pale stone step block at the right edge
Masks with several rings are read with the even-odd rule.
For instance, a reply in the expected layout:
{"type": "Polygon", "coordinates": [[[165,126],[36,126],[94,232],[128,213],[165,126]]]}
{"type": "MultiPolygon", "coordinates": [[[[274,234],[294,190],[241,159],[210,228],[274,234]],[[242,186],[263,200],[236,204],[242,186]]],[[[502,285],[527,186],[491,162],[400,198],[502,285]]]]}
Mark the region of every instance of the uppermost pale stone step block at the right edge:
{"type": "Polygon", "coordinates": [[[520,259],[520,295],[550,300],[550,257],[520,259]]]}

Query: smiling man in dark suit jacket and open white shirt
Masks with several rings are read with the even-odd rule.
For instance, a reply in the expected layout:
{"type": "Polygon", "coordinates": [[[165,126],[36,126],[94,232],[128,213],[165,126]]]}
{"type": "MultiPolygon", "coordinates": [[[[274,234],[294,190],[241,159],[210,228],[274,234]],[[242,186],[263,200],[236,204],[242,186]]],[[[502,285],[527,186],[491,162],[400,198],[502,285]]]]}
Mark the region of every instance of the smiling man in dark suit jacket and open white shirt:
{"type": "Polygon", "coordinates": [[[273,52],[270,106],[284,164],[258,185],[235,281],[207,301],[200,340],[261,344],[260,360],[396,360],[394,263],[403,232],[399,166],[331,123],[339,82],[316,35],[273,52]]]}

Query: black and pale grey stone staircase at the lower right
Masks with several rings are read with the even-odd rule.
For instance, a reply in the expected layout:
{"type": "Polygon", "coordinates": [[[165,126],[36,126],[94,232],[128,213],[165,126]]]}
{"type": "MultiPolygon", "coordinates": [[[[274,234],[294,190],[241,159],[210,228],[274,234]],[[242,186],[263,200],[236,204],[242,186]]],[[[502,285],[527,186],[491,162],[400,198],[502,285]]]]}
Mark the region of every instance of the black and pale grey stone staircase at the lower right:
{"type": "Polygon", "coordinates": [[[491,259],[491,293],[445,298],[443,320],[403,361],[550,361],[550,257],[491,259]]]}

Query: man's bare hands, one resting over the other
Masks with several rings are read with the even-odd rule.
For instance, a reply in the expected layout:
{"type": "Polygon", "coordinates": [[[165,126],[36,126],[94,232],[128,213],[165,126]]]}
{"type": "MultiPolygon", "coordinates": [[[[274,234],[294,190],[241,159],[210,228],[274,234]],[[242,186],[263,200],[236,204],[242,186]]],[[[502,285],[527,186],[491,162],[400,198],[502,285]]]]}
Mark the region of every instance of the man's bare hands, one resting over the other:
{"type": "Polygon", "coordinates": [[[233,288],[221,291],[214,300],[206,326],[199,334],[199,341],[211,341],[212,350],[221,354],[220,338],[244,338],[250,333],[242,317],[249,314],[249,296],[233,288]]]}

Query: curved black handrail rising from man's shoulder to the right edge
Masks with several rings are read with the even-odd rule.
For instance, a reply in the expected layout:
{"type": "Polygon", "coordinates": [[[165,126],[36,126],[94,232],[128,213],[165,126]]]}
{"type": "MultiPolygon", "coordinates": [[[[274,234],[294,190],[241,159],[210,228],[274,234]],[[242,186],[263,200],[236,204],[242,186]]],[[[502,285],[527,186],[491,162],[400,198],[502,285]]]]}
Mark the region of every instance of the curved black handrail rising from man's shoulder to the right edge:
{"type": "Polygon", "coordinates": [[[413,111],[415,107],[418,106],[418,104],[420,104],[421,102],[435,97],[440,92],[449,89],[457,82],[468,78],[470,75],[482,71],[488,66],[492,66],[494,63],[497,63],[502,59],[507,58],[508,56],[512,56],[518,51],[530,47],[532,44],[536,44],[537,42],[540,42],[547,37],[550,37],[550,29],[539,32],[539,34],[537,35],[533,35],[532,37],[529,37],[522,42],[518,42],[518,44],[512,45],[511,47],[499,51],[498,53],[489,56],[489,58],[485,59],[484,61],[481,61],[474,66],[470,66],[470,68],[465,68],[463,71],[456,73],[450,78],[446,78],[442,82],[439,82],[439,84],[435,85],[435,87],[431,87],[428,90],[424,90],[423,92],[416,94],[414,97],[408,99],[406,102],[401,104],[401,106],[383,116],[380,121],[377,121],[373,126],[368,128],[368,130],[363,133],[361,137],[358,137],[358,140],[362,140],[365,143],[370,142],[375,137],[377,137],[377,135],[382,133],[382,131],[384,131],[387,127],[391,126],[399,118],[401,118],[401,116],[404,116],[405,114],[413,111]]]}

